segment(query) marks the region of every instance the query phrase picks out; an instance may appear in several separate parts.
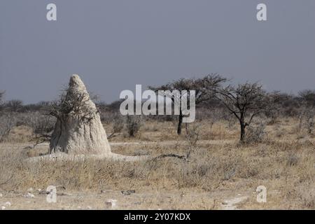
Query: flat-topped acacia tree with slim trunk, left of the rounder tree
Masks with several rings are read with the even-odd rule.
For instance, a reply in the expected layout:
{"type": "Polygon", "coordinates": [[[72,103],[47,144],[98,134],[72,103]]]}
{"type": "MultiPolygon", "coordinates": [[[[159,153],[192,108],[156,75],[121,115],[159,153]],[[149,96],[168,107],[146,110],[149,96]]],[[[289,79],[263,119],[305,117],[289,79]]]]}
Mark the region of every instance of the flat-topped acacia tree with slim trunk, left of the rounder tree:
{"type": "MultiPolygon", "coordinates": [[[[183,90],[195,90],[195,104],[200,104],[201,102],[207,101],[214,97],[214,92],[218,87],[221,87],[221,84],[226,81],[226,78],[218,75],[217,73],[211,73],[203,78],[181,78],[179,80],[175,80],[172,83],[167,83],[166,85],[161,85],[159,87],[149,86],[150,90],[153,90],[158,93],[159,90],[169,90],[170,92],[174,92],[174,90],[179,91],[178,99],[176,99],[174,94],[167,96],[172,99],[172,102],[181,102],[182,97],[187,97],[188,101],[189,94],[183,96],[181,93],[183,90]]],[[[182,105],[179,106],[179,120],[177,125],[177,134],[181,134],[182,123],[183,123],[183,109],[182,105]]]]}

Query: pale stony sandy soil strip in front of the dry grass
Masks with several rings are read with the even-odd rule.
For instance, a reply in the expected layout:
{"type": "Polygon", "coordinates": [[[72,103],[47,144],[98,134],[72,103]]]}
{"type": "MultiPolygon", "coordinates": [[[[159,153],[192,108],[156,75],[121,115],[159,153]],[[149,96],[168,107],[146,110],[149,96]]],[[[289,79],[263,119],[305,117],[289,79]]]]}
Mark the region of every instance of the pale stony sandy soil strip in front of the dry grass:
{"type": "MultiPolygon", "coordinates": [[[[241,209],[240,203],[252,203],[256,197],[254,192],[220,190],[211,193],[136,190],[130,195],[109,189],[99,193],[62,190],[57,191],[57,202],[48,203],[47,195],[38,190],[29,193],[2,190],[1,194],[2,209],[241,209]],[[113,200],[116,203],[111,203],[113,200]]],[[[264,205],[256,202],[255,207],[263,209],[264,205]]]]}

